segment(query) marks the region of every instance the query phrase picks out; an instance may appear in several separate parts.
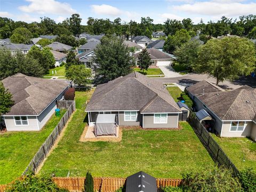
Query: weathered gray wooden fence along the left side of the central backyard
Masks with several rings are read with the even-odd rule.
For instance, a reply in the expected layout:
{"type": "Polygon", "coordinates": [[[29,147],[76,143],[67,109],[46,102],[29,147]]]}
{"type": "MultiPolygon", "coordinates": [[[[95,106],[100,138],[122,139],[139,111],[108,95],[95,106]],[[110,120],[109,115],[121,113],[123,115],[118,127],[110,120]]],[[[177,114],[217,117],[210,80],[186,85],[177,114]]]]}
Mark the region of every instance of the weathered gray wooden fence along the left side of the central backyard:
{"type": "Polygon", "coordinates": [[[44,141],[43,145],[39,148],[33,159],[28,164],[26,170],[22,173],[22,175],[26,174],[28,171],[36,172],[39,165],[44,161],[44,158],[47,156],[49,151],[51,150],[54,142],[59,137],[61,131],[67,124],[67,121],[71,114],[76,109],[76,103],[73,101],[73,103],[68,107],[68,110],[63,115],[63,117],[60,119],[60,122],[58,125],[54,128],[54,130],[51,132],[51,134],[47,137],[47,139],[44,141]]]}

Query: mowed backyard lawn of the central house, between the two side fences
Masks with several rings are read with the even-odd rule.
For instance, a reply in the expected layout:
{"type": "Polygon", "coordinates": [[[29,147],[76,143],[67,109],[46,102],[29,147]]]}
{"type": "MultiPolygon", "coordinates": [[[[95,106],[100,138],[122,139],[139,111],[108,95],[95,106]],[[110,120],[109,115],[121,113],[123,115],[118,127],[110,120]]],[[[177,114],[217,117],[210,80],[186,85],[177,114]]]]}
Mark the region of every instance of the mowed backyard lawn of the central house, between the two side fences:
{"type": "Polygon", "coordinates": [[[40,173],[59,177],[127,177],[145,171],[158,178],[181,178],[182,173],[213,167],[214,163],[191,126],[181,130],[124,129],[121,142],[80,142],[87,123],[85,101],[90,92],[76,92],[76,107],[63,138],[40,173]]]}

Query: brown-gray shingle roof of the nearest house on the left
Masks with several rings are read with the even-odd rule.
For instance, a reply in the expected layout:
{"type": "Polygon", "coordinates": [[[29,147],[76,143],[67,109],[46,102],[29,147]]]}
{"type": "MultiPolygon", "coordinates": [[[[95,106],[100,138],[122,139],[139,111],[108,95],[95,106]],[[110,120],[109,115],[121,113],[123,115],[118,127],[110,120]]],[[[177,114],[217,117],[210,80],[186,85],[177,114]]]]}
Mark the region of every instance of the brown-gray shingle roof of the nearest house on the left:
{"type": "Polygon", "coordinates": [[[63,90],[67,83],[51,79],[29,77],[18,73],[2,80],[14,100],[5,115],[39,115],[63,90]]]}

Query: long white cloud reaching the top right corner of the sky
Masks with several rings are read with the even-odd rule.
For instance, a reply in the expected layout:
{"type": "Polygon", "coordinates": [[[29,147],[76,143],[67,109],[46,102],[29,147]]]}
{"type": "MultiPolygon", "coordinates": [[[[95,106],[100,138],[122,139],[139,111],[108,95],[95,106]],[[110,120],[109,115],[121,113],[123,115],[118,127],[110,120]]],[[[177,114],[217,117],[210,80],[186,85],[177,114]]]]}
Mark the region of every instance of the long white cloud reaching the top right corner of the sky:
{"type": "Polygon", "coordinates": [[[209,16],[225,15],[227,17],[255,13],[256,3],[232,2],[234,1],[215,0],[209,2],[195,2],[194,4],[173,5],[172,10],[186,12],[190,14],[203,14],[209,16]]]}

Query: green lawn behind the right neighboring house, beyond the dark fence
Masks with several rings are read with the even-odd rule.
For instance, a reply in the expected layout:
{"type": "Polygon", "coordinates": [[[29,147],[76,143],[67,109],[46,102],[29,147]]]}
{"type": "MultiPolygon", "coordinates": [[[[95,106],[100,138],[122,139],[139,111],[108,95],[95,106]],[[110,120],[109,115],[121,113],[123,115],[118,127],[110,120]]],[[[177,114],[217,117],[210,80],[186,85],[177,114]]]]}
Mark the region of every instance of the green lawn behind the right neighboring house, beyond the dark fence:
{"type": "Polygon", "coordinates": [[[256,142],[247,138],[219,138],[215,134],[212,136],[239,170],[247,166],[256,170],[256,142]]]}

